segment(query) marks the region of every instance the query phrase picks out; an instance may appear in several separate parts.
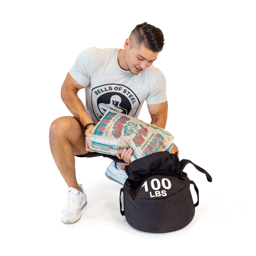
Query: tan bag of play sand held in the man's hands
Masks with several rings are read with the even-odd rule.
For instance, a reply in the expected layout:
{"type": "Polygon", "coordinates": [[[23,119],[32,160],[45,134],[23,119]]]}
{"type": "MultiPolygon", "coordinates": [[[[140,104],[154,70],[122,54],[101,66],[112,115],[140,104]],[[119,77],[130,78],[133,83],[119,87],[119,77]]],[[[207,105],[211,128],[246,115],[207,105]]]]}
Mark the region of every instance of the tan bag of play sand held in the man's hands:
{"type": "Polygon", "coordinates": [[[173,136],[166,130],[111,108],[94,126],[91,134],[86,141],[94,152],[116,155],[131,147],[131,161],[155,152],[170,152],[173,146],[173,136]]]}

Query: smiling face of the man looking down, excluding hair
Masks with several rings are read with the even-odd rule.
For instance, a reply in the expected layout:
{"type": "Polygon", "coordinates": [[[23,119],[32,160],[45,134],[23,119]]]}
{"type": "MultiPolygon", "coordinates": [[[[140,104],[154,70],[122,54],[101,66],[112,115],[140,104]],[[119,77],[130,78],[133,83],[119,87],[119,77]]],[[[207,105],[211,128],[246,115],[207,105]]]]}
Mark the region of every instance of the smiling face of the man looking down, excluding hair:
{"type": "Polygon", "coordinates": [[[132,74],[139,74],[156,60],[158,52],[152,52],[143,44],[140,47],[127,45],[125,62],[132,74]]]}

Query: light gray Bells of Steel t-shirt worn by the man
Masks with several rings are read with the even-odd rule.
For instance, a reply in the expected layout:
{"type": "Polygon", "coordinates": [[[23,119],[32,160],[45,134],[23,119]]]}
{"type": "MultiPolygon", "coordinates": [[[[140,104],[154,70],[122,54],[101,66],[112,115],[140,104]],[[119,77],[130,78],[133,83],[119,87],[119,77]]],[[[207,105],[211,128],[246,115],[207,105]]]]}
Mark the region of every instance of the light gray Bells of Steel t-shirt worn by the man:
{"type": "Polygon", "coordinates": [[[69,71],[84,86],[85,108],[95,123],[109,107],[138,118],[145,100],[147,104],[167,101],[164,74],[153,65],[137,75],[122,70],[117,59],[119,50],[87,48],[69,71]]]}

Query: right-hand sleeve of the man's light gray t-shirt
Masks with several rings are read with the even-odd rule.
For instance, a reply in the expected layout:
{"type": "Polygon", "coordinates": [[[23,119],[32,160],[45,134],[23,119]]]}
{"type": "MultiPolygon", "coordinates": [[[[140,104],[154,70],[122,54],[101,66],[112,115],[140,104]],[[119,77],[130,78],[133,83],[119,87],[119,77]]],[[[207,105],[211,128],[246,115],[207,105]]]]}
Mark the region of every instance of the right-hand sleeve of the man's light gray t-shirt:
{"type": "Polygon", "coordinates": [[[146,102],[147,104],[160,104],[166,101],[166,79],[164,74],[158,70],[146,102]]]}

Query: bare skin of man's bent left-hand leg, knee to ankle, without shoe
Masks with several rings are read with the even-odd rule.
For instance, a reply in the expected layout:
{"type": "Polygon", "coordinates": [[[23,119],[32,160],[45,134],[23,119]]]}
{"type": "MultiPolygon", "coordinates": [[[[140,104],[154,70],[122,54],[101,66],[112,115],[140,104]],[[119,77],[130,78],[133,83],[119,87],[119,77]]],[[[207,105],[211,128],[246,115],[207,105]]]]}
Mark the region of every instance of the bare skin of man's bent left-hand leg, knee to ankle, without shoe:
{"type": "Polygon", "coordinates": [[[68,187],[80,190],[76,180],[74,155],[85,155],[84,127],[71,116],[60,117],[50,127],[50,148],[60,174],[68,187]]]}

